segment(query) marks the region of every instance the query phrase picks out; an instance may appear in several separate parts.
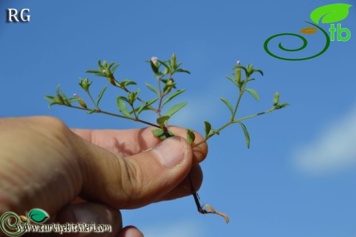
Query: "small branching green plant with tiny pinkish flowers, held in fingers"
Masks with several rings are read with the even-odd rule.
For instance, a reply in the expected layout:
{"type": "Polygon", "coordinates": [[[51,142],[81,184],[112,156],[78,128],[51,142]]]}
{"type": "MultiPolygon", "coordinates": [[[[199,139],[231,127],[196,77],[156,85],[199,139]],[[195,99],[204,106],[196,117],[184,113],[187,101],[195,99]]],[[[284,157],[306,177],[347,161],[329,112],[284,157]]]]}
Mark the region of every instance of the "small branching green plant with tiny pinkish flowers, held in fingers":
{"type": "MultiPolygon", "coordinates": [[[[170,104],[172,100],[177,98],[177,96],[180,96],[183,92],[186,91],[186,89],[177,89],[177,81],[173,79],[173,75],[179,72],[187,73],[190,74],[190,72],[186,69],[180,68],[181,62],[177,63],[177,58],[175,54],[170,57],[168,60],[161,61],[157,57],[152,57],[150,60],[147,60],[147,62],[151,66],[151,70],[153,71],[153,75],[156,78],[157,81],[157,87],[154,85],[151,85],[150,83],[145,83],[148,89],[150,89],[154,94],[154,98],[151,98],[149,100],[143,100],[140,98],[140,88],[136,90],[130,90],[129,86],[137,85],[135,81],[131,81],[129,79],[124,79],[123,81],[118,81],[115,76],[114,72],[116,68],[118,68],[119,64],[116,64],[114,62],[107,64],[107,61],[101,62],[101,60],[98,61],[98,67],[99,70],[88,70],[86,72],[94,74],[94,76],[101,76],[107,79],[107,81],[110,83],[110,85],[120,89],[121,91],[125,92],[125,94],[120,94],[116,96],[116,107],[118,108],[118,111],[120,111],[120,114],[117,113],[111,113],[108,111],[103,111],[99,107],[99,102],[101,101],[101,98],[103,97],[103,94],[105,93],[107,89],[107,85],[105,85],[102,89],[101,92],[99,92],[99,95],[97,97],[97,100],[94,100],[92,97],[92,94],[90,93],[90,85],[92,85],[92,81],[89,81],[88,77],[86,79],[81,79],[79,78],[79,86],[81,89],[88,94],[88,97],[90,98],[91,103],[93,104],[93,108],[88,108],[88,105],[86,102],[79,97],[77,94],[74,94],[72,98],[68,98],[64,92],[60,91],[60,85],[55,90],[55,96],[44,96],[47,100],[49,100],[50,104],[49,107],[51,107],[53,104],[60,104],[64,105],[66,107],[72,107],[75,109],[81,109],[84,111],[88,111],[89,114],[92,113],[104,113],[106,115],[112,115],[115,117],[120,117],[126,120],[132,120],[135,122],[140,122],[143,124],[147,124],[149,126],[155,127],[155,129],[152,130],[152,133],[155,137],[158,137],[162,140],[174,136],[174,134],[168,130],[168,121],[170,118],[183,109],[188,102],[179,102],[177,104],[171,105],[167,110],[166,113],[162,113],[162,110],[167,104],[170,104]],[[77,102],[79,106],[73,105],[74,102],[77,102]],[[144,120],[141,118],[141,114],[143,111],[153,111],[154,113],[157,114],[157,120],[155,122],[149,122],[147,120],[144,120]]],[[[204,130],[205,130],[205,136],[203,141],[199,141],[198,143],[194,144],[195,140],[195,135],[190,129],[186,129],[186,138],[188,143],[192,145],[192,148],[196,148],[197,146],[207,142],[210,138],[214,137],[215,135],[220,135],[220,132],[230,126],[231,124],[240,124],[242,127],[242,131],[244,133],[244,137],[246,139],[246,145],[247,148],[250,147],[250,136],[249,132],[246,128],[246,126],[242,123],[242,120],[246,120],[252,117],[257,117],[259,115],[264,115],[266,113],[270,113],[272,111],[275,111],[277,109],[282,109],[283,107],[288,106],[288,103],[279,103],[279,92],[275,93],[275,96],[273,98],[273,104],[272,107],[266,111],[263,111],[261,113],[255,113],[253,115],[249,115],[246,117],[240,117],[236,118],[236,115],[238,113],[238,107],[240,106],[240,102],[242,99],[242,96],[244,95],[245,92],[248,92],[255,98],[255,100],[259,100],[259,95],[255,91],[255,89],[251,88],[246,88],[246,85],[250,81],[254,81],[251,76],[255,73],[258,72],[262,76],[264,75],[262,70],[255,69],[253,68],[253,65],[248,65],[246,67],[240,65],[240,61],[236,64],[236,66],[233,66],[232,70],[233,76],[226,76],[227,79],[229,79],[236,87],[238,88],[238,97],[236,100],[236,103],[234,106],[232,106],[231,102],[227,100],[226,98],[220,98],[222,102],[227,106],[227,109],[229,109],[231,113],[231,117],[227,122],[221,126],[220,128],[214,129],[212,128],[212,125],[204,121],[204,130]],[[242,79],[242,71],[244,71],[245,77],[242,79]]],[[[207,213],[213,213],[213,214],[219,214],[220,216],[225,218],[225,221],[228,223],[229,218],[227,217],[226,214],[223,214],[222,212],[218,212],[212,208],[212,206],[208,204],[204,204],[203,206],[199,202],[199,195],[196,193],[196,189],[194,188],[194,185],[192,183],[192,178],[190,176],[190,173],[188,174],[188,179],[190,181],[190,191],[194,197],[194,201],[196,203],[196,207],[198,208],[198,211],[202,214],[207,214],[207,213]]]]}

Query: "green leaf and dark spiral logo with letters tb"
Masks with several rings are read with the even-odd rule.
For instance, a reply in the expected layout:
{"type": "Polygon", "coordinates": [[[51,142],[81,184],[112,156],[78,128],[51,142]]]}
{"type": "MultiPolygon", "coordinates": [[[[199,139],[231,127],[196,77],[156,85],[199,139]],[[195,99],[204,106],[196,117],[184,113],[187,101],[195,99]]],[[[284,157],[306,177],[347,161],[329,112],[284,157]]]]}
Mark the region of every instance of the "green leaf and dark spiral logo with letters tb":
{"type": "Polygon", "coordinates": [[[317,31],[321,31],[323,33],[323,35],[325,36],[325,46],[324,46],[324,48],[322,48],[322,51],[320,51],[319,53],[316,53],[316,55],[313,55],[310,57],[303,57],[303,58],[279,57],[279,56],[275,55],[274,53],[272,53],[270,51],[270,49],[268,48],[268,43],[271,40],[273,40],[279,36],[293,36],[293,37],[299,38],[303,41],[303,45],[301,47],[290,49],[290,48],[283,47],[281,42],[279,42],[278,47],[282,51],[287,51],[287,52],[296,52],[296,51],[303,50],[304,48],[307,47],[307,44],[308,44],[307,39],[305,39],[303,36],[298,35],[296,33],[279,33],[275,36],[271,36],[264,42],[264,50],[272,57],[275,57],[277,59],[282,59],[282,60],[289,60],[289,61],[301,61],[301,60],[307,60],[307,59],[312,59],[314,57],[318,57],[318,56],[322,55],[323,53],[325,53],[325,51],[327,51],[327,49],[330,46],[331,41],[335,41],[335,39],[337,41],[342,41],[342,42],[346,42],[346,41],[350,40],[351,31],[348,30],[347,28],[342,28],[341,23],[337,23],[336,26],[335,26],[335,23],[340,20],[344,20],[344,18],[346,18],[348,16],[348,8],[351,8],[351,7],[352,7],[352,5],[345,4],[345,3],[334,3],[334,4],[324,5],[320,8],[316,8],[310,14],[310,18],[312,19],[312,21],[315,24],[311,23],[309,21],[304,21],[305,23],[307,23],[311,26],[301,29],[299,31],[299,33],[304,33],[306,35],[312,35],[312,34],[316,33],[317,31]],[[321,22],[320,22],[320,20],[321,20],[321,22]],[[330,37],[329,37],[329,33],[327,33],[327,31],[325,31],[324,29],[322,29],[322,27],[320,27],[321,24],[319,25],[319,23],[330,24],[330,25],[328,25],[330,37]]]}

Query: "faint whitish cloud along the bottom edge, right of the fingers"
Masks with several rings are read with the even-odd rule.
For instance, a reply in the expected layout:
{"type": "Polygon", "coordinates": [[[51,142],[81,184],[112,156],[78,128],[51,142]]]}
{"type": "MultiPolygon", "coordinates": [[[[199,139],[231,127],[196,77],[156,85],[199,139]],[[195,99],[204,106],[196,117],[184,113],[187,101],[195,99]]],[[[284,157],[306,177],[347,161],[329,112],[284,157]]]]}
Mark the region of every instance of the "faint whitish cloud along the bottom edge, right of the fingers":
{"type": "Polygon", "coordinates": [[[203,229],[194,223],[183,222],[175,223],[175,225],[164,225],[163,227],[149,227],[149,228],[140,228],[146,237],[199,237],[205,236],[203,229]]]}

